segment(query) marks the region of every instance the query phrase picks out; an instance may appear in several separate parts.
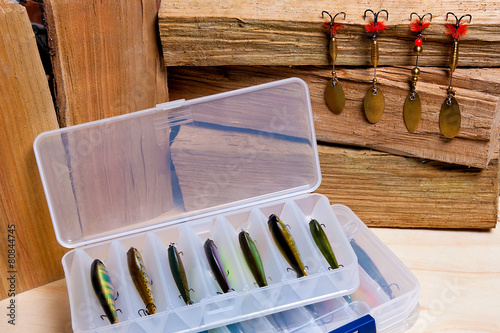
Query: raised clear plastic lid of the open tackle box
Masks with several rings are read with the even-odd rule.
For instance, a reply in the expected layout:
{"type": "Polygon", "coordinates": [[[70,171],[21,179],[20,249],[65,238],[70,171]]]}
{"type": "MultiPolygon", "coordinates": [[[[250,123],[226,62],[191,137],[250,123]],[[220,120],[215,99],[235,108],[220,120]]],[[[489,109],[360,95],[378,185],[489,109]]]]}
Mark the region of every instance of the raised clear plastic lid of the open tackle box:
{"type": "Polygon", "coordinates": [[[321,183],[309,90],[297,78],[45,132],[34,150],[65,247],[321,183]]]}

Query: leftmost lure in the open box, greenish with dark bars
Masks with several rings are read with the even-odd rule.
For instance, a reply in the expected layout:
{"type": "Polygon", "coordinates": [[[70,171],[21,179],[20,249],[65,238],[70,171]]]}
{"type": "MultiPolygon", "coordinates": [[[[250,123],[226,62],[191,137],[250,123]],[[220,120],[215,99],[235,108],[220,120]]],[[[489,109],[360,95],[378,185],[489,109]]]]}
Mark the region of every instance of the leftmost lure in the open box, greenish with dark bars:
{"type": "Polygon", "coordinates": [[[109,322],[111,324],[118,323],[113,284],[111,283],[106,266],[99,259],[92,262],[90,267],[90,281],[109,322]]]}

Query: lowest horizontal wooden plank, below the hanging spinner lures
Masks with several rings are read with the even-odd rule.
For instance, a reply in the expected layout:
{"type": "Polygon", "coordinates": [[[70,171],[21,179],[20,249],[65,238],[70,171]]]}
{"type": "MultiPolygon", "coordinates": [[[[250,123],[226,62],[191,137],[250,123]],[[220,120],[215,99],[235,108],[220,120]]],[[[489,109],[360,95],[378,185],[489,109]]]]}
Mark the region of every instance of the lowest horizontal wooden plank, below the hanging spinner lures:
{"type": "Polygon", "coordinates": [[[377,227],[495,228],[498,154],[480,170],[383,152],[319,146],[317,192],[377,227]]]}

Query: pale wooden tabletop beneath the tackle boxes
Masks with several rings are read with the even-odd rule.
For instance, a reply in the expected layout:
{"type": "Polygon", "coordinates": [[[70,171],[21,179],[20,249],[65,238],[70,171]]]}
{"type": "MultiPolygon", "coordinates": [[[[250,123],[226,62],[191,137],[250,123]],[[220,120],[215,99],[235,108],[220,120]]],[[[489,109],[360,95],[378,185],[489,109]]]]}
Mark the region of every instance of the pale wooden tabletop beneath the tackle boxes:
{"type": "MultiPolygon", "coordinates": [[[[408,332],[500,332],[500,230],[372,230],[420,281],[408,332]]],[[[0,332],[72,332],[65,280],[17,295],[15,327],[0,318],[0,332]]]]}

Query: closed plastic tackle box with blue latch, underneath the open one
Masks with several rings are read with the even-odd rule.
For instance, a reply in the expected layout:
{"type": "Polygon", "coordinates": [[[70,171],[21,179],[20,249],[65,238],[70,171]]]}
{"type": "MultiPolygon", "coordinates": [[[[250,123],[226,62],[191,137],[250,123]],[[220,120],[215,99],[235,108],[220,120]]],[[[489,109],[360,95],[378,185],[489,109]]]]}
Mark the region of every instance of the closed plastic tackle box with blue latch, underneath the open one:
{"type": "Polygon", "coordinates": [[[348,207],[333,205],[332,210],[360,254],[360,288],[350,298],[339,297],[210,333],[398,333],[415,323],[420,299],[415,276],[348,207]]]}

